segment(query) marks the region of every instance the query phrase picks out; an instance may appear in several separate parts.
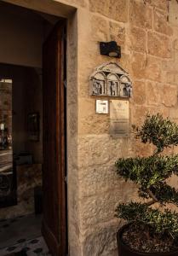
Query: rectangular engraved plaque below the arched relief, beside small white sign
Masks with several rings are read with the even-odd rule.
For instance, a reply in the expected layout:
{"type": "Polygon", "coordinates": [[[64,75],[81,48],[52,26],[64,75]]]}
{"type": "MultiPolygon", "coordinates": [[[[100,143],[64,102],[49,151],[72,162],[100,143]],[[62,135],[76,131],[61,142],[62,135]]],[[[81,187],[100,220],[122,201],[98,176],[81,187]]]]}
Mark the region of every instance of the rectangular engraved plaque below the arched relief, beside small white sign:
{"type": "Polygon", "coordinates": [[[110,133],[129,135],[129,101],[110,101],[110,133]]]}

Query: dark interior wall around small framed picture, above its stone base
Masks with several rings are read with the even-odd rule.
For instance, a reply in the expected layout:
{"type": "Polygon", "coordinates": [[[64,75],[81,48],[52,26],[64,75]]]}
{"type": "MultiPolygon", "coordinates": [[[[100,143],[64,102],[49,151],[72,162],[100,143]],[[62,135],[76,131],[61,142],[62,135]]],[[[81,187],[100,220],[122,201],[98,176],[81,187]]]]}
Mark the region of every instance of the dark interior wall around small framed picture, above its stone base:
{"type": "Polygon", "coordinates": [[[32,154],[34,163],[43,162],[42,129],[42,79],[41,69],[0,64],[0,73],[4,79],[12,79],[13,108],[13,153],[32,154]],[[38,142],[28,138],[28,113],[39,113],[40,137],[38,142]]]}

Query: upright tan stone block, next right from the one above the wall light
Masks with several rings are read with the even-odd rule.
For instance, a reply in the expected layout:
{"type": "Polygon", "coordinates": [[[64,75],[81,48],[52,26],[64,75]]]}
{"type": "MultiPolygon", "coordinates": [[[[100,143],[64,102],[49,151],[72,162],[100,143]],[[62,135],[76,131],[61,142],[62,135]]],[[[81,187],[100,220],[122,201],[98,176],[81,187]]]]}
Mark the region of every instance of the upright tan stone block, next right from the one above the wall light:
{"type": "Polygon", "coordinates": [[[138,27],[131,27],[129,36],[129,49],[146,52],[146,32],[138,27]]]}

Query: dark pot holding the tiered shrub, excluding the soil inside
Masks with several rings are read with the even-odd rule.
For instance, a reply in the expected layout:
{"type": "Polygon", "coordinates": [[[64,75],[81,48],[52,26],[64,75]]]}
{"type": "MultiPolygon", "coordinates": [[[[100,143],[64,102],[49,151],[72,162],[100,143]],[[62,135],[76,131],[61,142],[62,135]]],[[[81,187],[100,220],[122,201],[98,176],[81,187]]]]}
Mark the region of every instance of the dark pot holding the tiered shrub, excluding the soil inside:
{"type": "Polygon", "coordinates": [[[171,253],[138,253],[125,245],[122,241],[123,230],[129,226],[129,224],[123,225],[123,227],[118,230],[117,242],[118,242],[118,256],[178,256],[178,250],[171,253]]]}

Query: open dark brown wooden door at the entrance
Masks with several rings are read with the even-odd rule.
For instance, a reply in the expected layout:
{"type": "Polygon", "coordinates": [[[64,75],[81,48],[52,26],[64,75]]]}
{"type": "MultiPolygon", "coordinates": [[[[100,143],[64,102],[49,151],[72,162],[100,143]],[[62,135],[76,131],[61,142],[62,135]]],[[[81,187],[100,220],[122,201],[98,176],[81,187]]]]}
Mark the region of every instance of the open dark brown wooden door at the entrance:
{"type": "Polygon", "coordinates": [[[66,255],[65,22],[43,44],[43,237],[54,256],[66,255]]]}

